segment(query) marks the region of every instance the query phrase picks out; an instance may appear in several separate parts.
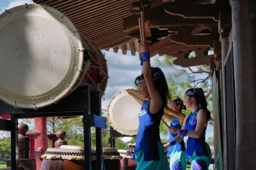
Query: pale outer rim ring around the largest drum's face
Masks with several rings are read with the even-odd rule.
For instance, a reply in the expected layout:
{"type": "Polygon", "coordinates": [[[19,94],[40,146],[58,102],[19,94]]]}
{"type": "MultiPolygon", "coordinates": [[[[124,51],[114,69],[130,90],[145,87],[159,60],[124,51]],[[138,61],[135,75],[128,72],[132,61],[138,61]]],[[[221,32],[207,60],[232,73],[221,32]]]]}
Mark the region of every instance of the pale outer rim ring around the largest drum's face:
{"type": "Polygon", "coordinates": [[[60,99],[75,90],[79,86],[79,83],[81,83],[83,80],[83,76],[88,70],[90,62],[83,60],[84,47],[81,42],[81,37],[74,24],[72,24],[72,22],[65,15],[63,15],[63,13],[49,6],[46,7],[40,4],[25,4],[11,8],[0,15],[0,29],[8,22],[8,20],[13,20],[20,15],[28,15],[29,12],[31,12],[30,14],[33,15],[41,14],[44,15],[44,17],[51,18],[51,20],[54,20],[55,22],[60,22],[63,29],[67,31],[68,38],[73,43],[70,69],[68,70],[65,78],[63,78],[63,81],[61,81],[61,83],[54,89],[37,96],[20,96],[3,89],[3,87],[0,87],[0,99],[2,101],[12,105],[15,108],[36,110],[53,103],[57,103],[60,101],[60,99]]]}

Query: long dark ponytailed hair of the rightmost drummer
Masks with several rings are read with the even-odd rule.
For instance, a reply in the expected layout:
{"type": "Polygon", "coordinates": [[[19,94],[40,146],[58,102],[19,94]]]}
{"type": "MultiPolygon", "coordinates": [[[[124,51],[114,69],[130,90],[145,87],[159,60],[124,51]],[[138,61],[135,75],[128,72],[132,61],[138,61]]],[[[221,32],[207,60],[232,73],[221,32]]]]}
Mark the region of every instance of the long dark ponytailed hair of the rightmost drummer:
{"type": "Polygon", "coordinates": [[[202,88],[188,89],[185,96],[195,97],[196,104],[206,112],[206,121],[212,120],[211,112],[207,109],[207,101],[205,100],[204,91],[202,88]]]}

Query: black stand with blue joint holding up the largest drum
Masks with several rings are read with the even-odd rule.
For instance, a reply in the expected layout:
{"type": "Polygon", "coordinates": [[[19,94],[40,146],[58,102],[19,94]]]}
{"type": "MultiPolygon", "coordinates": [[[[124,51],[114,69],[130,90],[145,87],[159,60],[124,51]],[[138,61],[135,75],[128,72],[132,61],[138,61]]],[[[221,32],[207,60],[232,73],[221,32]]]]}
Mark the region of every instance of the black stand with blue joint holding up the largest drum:
{"type": "MultiPolygon", "coordinates": [[[[84,165],[92,169],[91,162],[91,127],[96,127],[97,170],[102,164],[102,128],[106,128],[106,118],[100,117],[100,92],[90,92],[90,87],[79,86],[74,92],[52,104],[38,110],[13,108],[0,101],[0,113],[10,114],[11,120],[0,119],[0,131],[11,131],[12,169],[19,169],[18,118],[83,116],[84,125],[84,165]]],[[[84,169],[85,169],[84,167],[84,169]]]]}

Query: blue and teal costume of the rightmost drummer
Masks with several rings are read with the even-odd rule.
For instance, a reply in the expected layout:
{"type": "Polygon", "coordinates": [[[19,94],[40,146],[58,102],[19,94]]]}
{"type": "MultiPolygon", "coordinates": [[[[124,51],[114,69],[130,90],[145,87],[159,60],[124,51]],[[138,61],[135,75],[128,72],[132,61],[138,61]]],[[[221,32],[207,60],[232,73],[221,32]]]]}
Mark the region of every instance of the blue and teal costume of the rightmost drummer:
{"type": "MultiPolygon", "coordinates": [[[[200,111],[197,108],[194,113],[190,113],[186,120],[186,130],[195,131],[196,129],[196,115],[200,111]]],[[[211,150],[209,145],[205,142],[205,131],[207,123],[205,123],[204,131],[200,138],[188,138],[186,157],[191,160],[191,170],[206,170],[211,163],[211,150]]]]}

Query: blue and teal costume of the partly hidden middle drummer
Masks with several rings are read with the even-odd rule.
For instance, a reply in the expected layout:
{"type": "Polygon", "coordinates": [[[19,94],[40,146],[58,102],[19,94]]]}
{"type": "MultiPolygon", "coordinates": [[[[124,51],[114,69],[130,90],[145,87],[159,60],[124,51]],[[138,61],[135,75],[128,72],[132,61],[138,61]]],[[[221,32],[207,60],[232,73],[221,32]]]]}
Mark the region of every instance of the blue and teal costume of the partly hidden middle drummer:
{"type": "MultiPolygon", "coordinates": [[[[176,129],[181,129],[182,123],[179,122],[179,118],[173,117],[170,127],[174,127],[176,129]]],[[[170,134],[169,142],[172,143],[175,136],[178,134],[170,134]]],[[[167,157],[170,157],[170,169],[172,170],[186,170],[187,161],[186,161],[186,151],[185,144],[182,140],[180,143],[176,145],[171,145],[167,148],[167,157]]]]}

